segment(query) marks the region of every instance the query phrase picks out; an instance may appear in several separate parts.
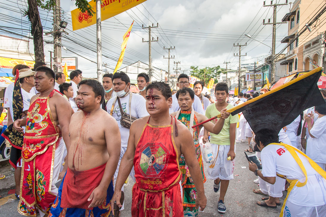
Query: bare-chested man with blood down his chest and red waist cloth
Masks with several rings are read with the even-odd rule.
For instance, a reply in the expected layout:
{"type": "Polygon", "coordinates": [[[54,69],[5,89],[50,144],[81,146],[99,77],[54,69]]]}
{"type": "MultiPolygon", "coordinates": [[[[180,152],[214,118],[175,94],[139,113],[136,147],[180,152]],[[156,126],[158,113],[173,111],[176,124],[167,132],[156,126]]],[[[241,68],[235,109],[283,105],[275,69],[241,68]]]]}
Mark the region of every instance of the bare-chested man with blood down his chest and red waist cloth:
{"type": "Polygon", "coordinates": [[[101,108],[103,86],[95,80],[79,84],[69,125],[67,173],[50,210],[54,217],[111,216],[113,174],[120,157],[116,120],[101,108]]]}

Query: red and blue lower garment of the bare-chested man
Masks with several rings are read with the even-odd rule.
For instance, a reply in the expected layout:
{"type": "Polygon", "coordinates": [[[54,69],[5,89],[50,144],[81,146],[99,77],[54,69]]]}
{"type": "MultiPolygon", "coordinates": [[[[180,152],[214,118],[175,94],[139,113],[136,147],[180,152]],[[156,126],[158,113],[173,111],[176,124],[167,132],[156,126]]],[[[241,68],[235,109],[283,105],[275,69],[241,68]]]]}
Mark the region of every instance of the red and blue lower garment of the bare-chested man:
{"type": "Polygon", "coordinates": [[[58,196],[56,197],[49,217],[111,217],[111,199],[113,196],[113,182],[111,181],[106,200],[98,207],[88,209],[91,201],[87,201],[93,190],[99,185],[103,178],[106,163],[93,169],[85,171],[73,171],[67,169],[62,181],[58,196]]]}

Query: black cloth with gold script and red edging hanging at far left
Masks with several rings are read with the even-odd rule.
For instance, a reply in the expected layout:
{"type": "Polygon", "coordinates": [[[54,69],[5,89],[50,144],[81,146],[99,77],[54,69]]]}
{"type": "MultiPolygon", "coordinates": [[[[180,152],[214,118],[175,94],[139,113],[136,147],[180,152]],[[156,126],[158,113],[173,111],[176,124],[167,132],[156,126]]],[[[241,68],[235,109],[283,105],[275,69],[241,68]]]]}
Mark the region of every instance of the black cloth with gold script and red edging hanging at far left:
{"type": "MultiPolygon", "coordinates": [[[[23,99],[22,99],[22,90],[19,81],[19,70],[16,70],[16,80],[14,85],[14,90],[12,93],[12,113],[13,120],[22,118],[23,112],[23,99]]],[[[17,169],[17,162],[22,158],[22,144],[24,139],[24,133],[16,131],[13,128],[13,123],[10,124],[5,132],[2,133],[2,136],[7,139],[12,145],[10,150],[10,159],[9,163],[17,169]]]]}

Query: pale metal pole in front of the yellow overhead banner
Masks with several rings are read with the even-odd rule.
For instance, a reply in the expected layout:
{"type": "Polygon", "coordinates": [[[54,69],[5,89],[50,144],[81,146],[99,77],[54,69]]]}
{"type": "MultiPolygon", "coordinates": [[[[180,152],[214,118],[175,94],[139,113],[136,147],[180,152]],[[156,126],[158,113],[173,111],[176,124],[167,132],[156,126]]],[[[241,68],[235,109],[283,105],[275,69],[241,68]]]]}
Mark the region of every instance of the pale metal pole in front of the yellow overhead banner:
{"type": "Polygon", "coordinates": [[[96,0],[97,81],[102,84],[101,0],[96,0]]]}

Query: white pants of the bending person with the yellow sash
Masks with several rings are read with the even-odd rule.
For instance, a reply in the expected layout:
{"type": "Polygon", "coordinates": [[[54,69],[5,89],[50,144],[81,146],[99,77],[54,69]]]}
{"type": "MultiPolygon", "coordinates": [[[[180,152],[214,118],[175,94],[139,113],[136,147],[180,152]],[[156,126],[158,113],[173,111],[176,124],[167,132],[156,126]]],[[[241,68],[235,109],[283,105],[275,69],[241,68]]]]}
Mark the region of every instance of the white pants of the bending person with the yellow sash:
{"type": "Polygon", "coordinates": [[[318,207],[304,207],[295,205],[289,201],[286,202],[284,208],[284,217],[295,216],[295,217],[325,217],[326,216],[326,205],[318,207]]]}

